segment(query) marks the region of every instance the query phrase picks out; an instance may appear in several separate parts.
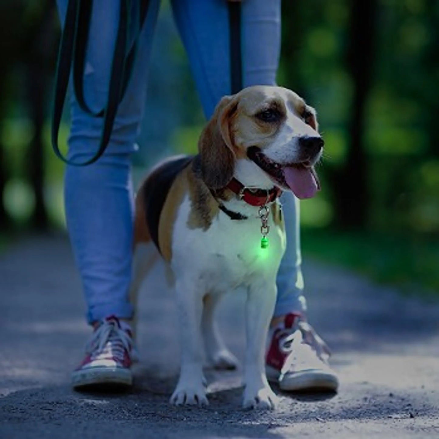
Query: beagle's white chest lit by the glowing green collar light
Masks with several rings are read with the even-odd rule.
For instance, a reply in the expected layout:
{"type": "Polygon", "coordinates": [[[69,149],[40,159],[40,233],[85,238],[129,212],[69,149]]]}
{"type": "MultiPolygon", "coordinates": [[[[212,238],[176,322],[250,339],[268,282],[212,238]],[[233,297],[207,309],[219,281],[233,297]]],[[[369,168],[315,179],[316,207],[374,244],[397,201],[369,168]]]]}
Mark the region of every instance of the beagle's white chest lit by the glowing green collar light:
{"type": "Polygon", "coordinates": [[[261,220],[233,220],[220,212],[208,230],[187,226],[190,202],[177,214],[171,265],[177,276],[199,277],[206,288],[229,290],[255,276],[275,275],[285,250],[285,234],[269,218],[268,248],[261,248],[261,220]]]}

